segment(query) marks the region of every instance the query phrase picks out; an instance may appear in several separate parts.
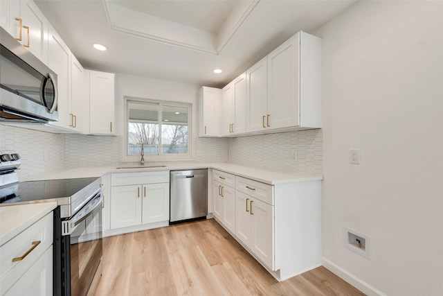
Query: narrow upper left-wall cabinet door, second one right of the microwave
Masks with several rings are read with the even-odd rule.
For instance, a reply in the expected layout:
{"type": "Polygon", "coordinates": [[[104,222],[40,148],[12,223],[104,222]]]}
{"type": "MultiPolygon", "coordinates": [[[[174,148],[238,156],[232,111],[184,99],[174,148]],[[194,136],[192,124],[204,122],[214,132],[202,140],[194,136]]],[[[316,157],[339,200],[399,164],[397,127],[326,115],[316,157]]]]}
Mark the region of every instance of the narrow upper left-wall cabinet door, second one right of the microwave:
{"type": "Polygon", "coordinates": [[[87,122],[83,109],[83,72],[84,69],[80,62],[78,62],[74,55],[71,55],[71,116],[73,116],[73,129],[78,132],[85,132],[85,123],[87,122]]]}

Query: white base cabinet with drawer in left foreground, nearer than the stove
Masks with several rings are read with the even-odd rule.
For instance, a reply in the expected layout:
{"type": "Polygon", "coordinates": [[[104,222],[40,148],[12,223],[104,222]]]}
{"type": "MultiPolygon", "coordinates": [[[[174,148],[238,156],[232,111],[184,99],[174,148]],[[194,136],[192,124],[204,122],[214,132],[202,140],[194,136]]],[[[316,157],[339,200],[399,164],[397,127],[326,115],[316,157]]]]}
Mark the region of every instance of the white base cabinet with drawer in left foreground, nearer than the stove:
{"type": "Polygon", "coordinates": [[[53,212],[1,245],[1,295],[52,295],[53,212]]]}

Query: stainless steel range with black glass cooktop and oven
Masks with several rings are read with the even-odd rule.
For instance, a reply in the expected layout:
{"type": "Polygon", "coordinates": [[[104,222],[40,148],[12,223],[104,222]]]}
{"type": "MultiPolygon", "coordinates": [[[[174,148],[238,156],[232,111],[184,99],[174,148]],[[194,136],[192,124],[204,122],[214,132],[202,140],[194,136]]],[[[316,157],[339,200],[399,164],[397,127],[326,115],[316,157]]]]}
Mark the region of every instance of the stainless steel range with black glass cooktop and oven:
{"type": "Polygon", "coordinates": [[[93,295],[102,274],[101,178],[19,182],[17,153],[0,154],[0,206],[57,202],[53,295],[93,295]]]}

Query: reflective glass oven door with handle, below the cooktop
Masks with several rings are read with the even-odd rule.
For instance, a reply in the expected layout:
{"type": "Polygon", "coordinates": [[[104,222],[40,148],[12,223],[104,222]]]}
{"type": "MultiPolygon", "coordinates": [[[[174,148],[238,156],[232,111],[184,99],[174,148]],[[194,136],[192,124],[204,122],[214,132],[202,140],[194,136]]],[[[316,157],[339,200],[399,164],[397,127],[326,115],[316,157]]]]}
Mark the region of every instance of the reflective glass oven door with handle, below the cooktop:
{"type": "Polygon", "coordinates": [[[102,199],[100,192],[69,220],[71,295],[87,295],[102,259],[102,199]]]}

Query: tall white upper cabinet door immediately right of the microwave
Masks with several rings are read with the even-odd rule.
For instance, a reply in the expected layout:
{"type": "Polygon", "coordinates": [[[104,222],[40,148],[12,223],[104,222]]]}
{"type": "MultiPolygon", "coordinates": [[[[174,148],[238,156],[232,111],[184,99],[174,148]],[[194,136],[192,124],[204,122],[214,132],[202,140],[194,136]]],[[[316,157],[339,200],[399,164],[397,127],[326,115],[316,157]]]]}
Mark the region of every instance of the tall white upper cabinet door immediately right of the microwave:
{"type": "Polygon", "coordinates": [[[49,30],[48,67],[57,73],[58,121],[51,122],[61,128],[73,127],[71,114],[71,51],[53,28],[49,30]]]}

